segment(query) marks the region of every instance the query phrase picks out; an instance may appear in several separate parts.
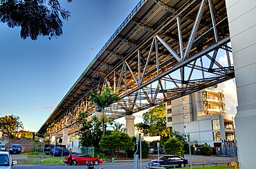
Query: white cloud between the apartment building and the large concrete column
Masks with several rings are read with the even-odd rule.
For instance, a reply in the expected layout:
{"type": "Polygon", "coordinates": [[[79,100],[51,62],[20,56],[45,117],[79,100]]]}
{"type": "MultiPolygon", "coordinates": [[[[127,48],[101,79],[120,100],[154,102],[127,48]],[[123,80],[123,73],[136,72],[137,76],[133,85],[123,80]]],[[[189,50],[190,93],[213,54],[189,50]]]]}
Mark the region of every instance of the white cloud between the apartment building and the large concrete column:
{"type": "Polygon", "coordinates": [[[225,95],[227,113],[235,115],[237,113],[237,87],[235,79],[219,83],[218,88],[222,89],[225,95]]]}

